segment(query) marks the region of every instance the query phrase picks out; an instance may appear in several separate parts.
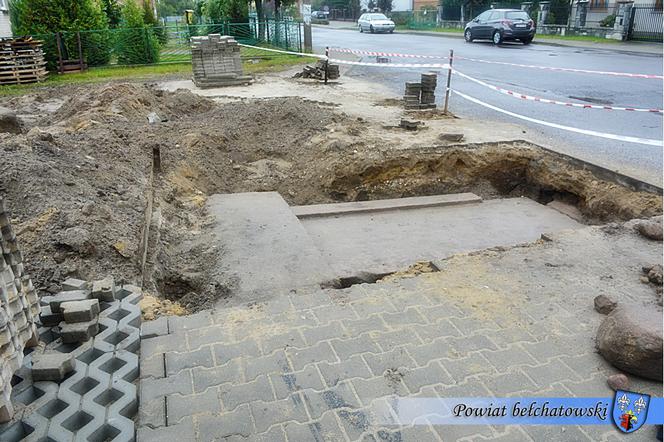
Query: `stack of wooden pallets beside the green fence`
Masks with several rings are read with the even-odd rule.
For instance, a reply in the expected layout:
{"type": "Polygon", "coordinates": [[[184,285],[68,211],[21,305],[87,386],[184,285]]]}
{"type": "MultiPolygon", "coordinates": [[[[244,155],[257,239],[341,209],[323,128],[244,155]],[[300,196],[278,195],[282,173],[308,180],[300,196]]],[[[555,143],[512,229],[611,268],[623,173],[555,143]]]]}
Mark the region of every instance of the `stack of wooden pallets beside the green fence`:
{"type": "Polygon", "coordinates": [[[0,85],[35,83],[46,74],[41,41],[31,37],[0,39],[0,85]]]}

